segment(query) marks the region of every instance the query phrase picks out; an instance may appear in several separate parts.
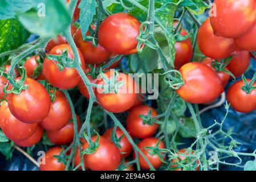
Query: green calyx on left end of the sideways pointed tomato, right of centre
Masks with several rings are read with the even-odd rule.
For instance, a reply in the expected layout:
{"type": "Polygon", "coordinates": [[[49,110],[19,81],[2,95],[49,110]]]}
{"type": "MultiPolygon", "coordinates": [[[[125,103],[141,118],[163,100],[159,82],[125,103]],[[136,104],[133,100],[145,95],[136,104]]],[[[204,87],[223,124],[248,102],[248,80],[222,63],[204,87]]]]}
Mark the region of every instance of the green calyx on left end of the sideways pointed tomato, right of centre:
{"type": "Polygon", "coordinates": [[[177,90],[185,84],[184,80],[182,79],[181,73],[175,69],[172,69],[160,75],[164,75],[164,82],[168,84],[169,87],[173,90],[177,90]]]}

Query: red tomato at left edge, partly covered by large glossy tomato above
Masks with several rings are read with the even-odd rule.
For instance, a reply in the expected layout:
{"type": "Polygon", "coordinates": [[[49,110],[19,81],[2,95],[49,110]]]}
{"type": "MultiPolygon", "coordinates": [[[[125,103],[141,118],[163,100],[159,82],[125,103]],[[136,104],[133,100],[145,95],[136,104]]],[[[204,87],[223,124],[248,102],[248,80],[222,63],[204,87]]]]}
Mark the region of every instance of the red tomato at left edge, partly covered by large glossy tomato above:
{"type": "Polygon", "coordinates": [[[0,127],[9,139],[15,141],[26,140],[35,133],[37,124],[27,124],[16,119],[11,114],[6,101],[1,103],[0,115],[0,127]]]}

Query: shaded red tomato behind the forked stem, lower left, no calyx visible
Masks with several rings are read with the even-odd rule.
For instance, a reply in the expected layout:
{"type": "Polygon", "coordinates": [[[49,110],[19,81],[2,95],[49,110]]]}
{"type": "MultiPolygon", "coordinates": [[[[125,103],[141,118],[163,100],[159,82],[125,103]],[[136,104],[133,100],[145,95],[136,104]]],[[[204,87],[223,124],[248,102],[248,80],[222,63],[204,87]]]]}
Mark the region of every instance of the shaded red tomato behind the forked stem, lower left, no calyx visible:
{"type": "MultiPolygon", "coordinates": [[[[80,128],[80,119],[76,115],[78,122],[78,129],[80,128]]],[[[69,121],[62,129],[60,130],[46,130],[46,135],[50,141],[56,145],[70,144],[74,139],[74,123],[69,121]]]]}

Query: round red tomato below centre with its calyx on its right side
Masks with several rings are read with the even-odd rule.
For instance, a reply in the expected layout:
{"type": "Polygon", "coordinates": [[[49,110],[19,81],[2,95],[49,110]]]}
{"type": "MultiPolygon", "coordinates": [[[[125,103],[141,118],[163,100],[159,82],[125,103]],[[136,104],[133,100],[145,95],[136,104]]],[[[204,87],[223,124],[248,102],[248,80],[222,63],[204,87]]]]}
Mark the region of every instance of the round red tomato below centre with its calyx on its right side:
{"type": "Polygon", "coordinates": [[[156,122],[153,125],[148,123],[144,125],[143,119],[140,115],[148,115],[149,110],[151,110],[151,117],[157,116],[155,109],[148,105],[140,105],[135,107],[128,115],[126,125],[129,133],[136,138],[148,138],[154,135],[159,127],[156,122]]]}

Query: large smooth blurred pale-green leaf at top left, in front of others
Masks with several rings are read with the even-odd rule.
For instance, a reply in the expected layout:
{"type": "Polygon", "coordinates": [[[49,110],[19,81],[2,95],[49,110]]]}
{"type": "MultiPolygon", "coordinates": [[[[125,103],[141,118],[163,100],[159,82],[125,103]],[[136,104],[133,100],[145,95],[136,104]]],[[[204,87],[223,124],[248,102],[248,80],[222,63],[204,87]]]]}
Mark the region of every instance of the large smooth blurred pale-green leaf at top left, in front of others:
{"type": "Polygon", "coordinates": [[[42,37],[55,37],[71,23],[71,15],[61,0],[36,0],[38,6],[18,15],[30,32],[42,37]]]}

